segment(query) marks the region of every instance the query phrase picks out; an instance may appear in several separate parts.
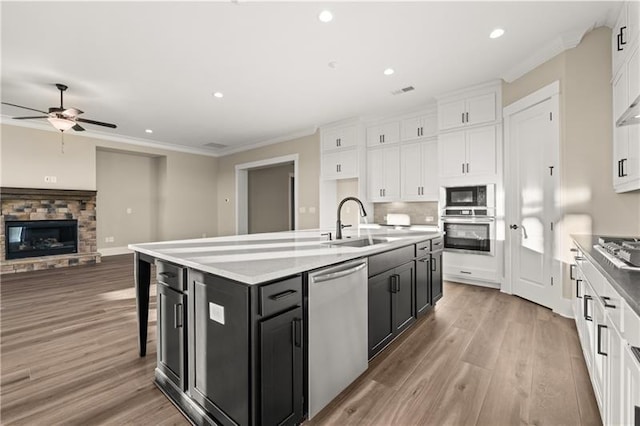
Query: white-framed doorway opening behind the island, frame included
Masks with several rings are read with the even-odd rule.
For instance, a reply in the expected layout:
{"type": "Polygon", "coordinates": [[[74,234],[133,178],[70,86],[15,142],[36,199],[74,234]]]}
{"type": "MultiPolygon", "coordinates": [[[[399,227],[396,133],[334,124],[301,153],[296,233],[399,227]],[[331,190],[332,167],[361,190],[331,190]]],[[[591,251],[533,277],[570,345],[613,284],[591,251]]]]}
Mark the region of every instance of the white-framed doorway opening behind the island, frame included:
{"type": "Polygon", "coordinates": [[[236,234],[297,229],[298,154],[236,165],[236,234]]]}

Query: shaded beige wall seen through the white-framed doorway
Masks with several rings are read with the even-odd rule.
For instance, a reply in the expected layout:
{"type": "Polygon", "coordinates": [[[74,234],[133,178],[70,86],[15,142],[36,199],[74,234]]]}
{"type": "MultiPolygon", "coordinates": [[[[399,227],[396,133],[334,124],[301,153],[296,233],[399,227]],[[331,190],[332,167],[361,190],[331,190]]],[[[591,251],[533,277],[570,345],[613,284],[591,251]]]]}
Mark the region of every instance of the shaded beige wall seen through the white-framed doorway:
{"type": "Polygon", "coordinates": [[[288,231],[293,163],[249,170],[249,233],[288,231]]]}

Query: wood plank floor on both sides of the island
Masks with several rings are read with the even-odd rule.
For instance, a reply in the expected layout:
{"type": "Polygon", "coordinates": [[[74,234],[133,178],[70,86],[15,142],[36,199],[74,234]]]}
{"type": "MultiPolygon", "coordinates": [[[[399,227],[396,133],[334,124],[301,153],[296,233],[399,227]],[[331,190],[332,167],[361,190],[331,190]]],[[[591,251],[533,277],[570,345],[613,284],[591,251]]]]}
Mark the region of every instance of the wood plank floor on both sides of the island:
{"type": "MultiPolygon", "coordinates": [[[[133,258],[2,276],[0,423],[187,425],[137,355],[133,258]]],[[[599,424],[573,321],[445,284],[419,320],[307,425],[599,424]]]]}

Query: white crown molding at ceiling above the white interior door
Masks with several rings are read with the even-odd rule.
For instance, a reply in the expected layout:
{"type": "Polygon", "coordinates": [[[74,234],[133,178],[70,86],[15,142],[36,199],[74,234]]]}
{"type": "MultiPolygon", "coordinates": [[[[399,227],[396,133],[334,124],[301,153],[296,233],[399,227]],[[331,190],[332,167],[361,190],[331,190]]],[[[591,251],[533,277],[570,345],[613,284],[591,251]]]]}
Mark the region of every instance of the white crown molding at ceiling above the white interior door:
{"type": "Polygon", "coordinates": [[[529,71],[544,64],[549,59],[559,55],[565,50],[573,49],[578,44],[580,44],[585,34],[590,32],[597,26],[604,25],[607,21],[608,18],[603,18],[601,21],[597,21],[593,25],[583,27],[579,30],[569,31],[560,35],[559,37],[556,37],[554,40],[550,41],[537,51],[533,52],[533,54],[528,55],[524,61],[516,64],[515,66],[504,72],[501,76],[502,79],[507,83],[511,83],[514,80],[517,80],[529,71]]]}

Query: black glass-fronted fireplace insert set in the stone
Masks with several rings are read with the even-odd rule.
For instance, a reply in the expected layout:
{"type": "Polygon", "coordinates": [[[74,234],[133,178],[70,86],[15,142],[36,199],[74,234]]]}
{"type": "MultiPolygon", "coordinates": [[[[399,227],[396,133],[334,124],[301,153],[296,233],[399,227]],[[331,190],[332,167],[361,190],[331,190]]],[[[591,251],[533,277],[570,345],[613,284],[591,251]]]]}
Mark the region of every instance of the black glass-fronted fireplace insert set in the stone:
{"type": "Polygon", "coordinates": [[[7,260],[77,253],[78,221],[7,221],[5,241],[7,260]]]}

